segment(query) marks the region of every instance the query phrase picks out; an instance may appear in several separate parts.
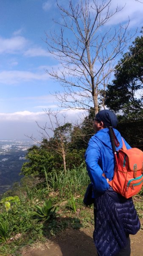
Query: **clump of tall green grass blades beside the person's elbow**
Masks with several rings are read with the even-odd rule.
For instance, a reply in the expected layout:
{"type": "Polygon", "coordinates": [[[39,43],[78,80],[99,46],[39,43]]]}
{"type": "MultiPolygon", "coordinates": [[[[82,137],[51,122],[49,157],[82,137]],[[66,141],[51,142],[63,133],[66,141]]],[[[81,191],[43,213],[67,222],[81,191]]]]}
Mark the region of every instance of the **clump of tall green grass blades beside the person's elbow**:
{"type": "Polygon", "coordinates": [[[53,169],[53,172],[48,174],[47,181],[50,189],[58,191],[60,196],[83,194],[90,183],[86,167],[82,165],[78,168],[74,167],[71,170],[67,170],[66,174],[64,171],[57,172],[53,169]]]}

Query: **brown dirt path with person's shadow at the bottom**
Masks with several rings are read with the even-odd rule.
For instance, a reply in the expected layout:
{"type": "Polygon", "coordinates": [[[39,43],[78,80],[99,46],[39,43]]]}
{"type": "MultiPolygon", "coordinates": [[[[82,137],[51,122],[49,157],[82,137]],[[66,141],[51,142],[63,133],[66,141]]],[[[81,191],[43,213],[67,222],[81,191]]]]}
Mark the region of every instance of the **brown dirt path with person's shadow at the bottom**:
{"type": "MultiPolygon", "coordinates": [[[[143,230],[131,238],[131,256],[143,256],[143,230]]],[[[23,256],[97,256],[93,242],[93,228],[65,230],[58,237],[39,248],[31,248],[23,256]]]]}

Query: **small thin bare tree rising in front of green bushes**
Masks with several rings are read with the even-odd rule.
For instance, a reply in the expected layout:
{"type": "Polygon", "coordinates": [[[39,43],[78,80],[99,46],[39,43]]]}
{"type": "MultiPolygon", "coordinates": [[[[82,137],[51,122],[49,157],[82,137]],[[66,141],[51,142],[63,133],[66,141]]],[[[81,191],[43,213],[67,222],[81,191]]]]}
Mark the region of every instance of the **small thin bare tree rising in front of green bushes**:
{"type": "Polygon", "coordinates": [[[42,141],[38,141],[36,138],[31,135],[31,138],[34,142],[43,145],[45,148],[56,152],[62,157],[64,172],[66,173],[66,154],[68,149],[68,143],[70,142],[70,132],[72,129],[72,124],[65,122],[65,116],[60,115],[59,111],[51,111],[50,109],[45,110],[45,113],[48,116],[48,123],[44,126],[39,125],[39,134],[42,141]],[[63,121],[60,121],[60,119],[63,121]]]}

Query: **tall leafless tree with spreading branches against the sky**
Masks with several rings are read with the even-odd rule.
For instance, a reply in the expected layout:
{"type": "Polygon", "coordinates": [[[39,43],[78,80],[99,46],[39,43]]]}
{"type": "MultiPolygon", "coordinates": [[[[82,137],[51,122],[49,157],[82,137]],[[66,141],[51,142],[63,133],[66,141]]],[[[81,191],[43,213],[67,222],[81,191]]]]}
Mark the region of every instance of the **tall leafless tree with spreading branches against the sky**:
{"type": "MultiPolygon", "coordinates": [[[[111,0],[80,0],[76,6],[69,1],[69,9],[59,7],[62,22],[59,33],[50,32],[46,43],[48,52],[62,65],[48,74],[60,82],[63,93],[55,96],[64,108],[89,110],[98,113],[104,106],[103,90],[115,71],[115,60],[123,53],[131,36],[128,24],[109,28],[107,23],[122,9],[110,12],[111,0]]],[[[117,63],[116,63],[117,64],[117,63]]]]}

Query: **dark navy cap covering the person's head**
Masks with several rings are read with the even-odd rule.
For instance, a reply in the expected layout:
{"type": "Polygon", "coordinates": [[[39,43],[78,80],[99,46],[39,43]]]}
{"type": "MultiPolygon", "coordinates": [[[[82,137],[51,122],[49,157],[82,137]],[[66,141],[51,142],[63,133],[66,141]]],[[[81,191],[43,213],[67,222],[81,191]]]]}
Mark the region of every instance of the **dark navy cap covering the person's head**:
{"type": "Polygon", "coordinates": [[[113,111],[108,109],[99,111],[96,114],[95,119],[102,121],[104,125],[106,125],[107,127],[109,126],[116,127],[118,124],[117,116],[113,111]]]}

